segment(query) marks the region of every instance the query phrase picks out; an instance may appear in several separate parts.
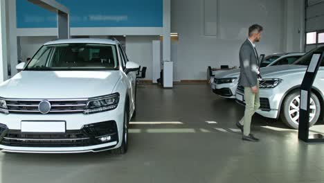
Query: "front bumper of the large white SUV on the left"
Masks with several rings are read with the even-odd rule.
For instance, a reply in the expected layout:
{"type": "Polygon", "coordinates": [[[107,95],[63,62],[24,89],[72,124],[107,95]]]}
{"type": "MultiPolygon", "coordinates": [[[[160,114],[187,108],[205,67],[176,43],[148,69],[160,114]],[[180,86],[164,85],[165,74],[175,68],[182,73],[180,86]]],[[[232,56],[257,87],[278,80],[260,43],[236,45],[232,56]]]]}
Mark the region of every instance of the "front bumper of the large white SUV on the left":
{"type": "Polygon", "coordinates": [[[96,114],[0,114],[0,149],[15,153],[88,153],[118,148],[123,109],[96,114]],[[65,132],[21,132],[21,121],[64,121],[65,132]],[[100,137],[109,140],[100,141],[100,137]]]}

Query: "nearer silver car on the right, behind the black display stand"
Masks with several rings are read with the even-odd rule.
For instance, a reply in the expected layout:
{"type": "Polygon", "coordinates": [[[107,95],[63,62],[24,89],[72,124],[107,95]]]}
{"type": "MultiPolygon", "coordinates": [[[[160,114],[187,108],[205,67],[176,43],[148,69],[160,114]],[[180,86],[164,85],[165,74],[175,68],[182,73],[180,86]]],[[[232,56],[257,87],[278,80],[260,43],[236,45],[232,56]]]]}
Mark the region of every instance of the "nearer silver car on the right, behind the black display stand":
{"type": "MultiPolygon", "coordinates": [[[[298,129],[300,85],[314,51],[324,51],[324,46],[310,51],[294,64],[262,68],[260,82],[260,110],[258,114],[271,119],[282,119],[290,128],[298,129]]],[[[310,101],[309,125],[320,119],[324,98],[324,62],[318,70],[310,101]]],[[[236,101],[244,105],[244,88],[237,87],[236,101]]]]}

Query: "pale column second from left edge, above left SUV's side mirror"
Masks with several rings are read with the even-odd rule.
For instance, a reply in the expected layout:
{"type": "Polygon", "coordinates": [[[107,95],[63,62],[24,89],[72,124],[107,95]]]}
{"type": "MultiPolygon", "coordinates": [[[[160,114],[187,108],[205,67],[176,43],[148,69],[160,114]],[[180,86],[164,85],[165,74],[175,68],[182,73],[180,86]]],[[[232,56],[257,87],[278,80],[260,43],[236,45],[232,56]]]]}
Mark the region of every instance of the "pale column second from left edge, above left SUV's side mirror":
{"type": "Polygon", "coordinates": [[[16,65],[18,64],[18,46],[17,46],[17,16],[16,16],[16,0],[7,1],[9,8],[9,53],[11,77],[17,73],[16,65]]]}

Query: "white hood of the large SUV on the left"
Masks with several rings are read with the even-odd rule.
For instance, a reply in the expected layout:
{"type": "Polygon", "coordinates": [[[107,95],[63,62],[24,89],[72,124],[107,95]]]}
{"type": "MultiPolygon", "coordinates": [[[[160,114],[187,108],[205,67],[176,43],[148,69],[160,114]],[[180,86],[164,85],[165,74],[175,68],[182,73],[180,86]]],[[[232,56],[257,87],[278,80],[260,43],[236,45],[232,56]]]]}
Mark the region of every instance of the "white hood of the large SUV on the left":
{"type": "Polygon", "coordinates": [[[3,98],[89,98],[111,94],[120,71],[21,71],[1,83],[3,98]]]}

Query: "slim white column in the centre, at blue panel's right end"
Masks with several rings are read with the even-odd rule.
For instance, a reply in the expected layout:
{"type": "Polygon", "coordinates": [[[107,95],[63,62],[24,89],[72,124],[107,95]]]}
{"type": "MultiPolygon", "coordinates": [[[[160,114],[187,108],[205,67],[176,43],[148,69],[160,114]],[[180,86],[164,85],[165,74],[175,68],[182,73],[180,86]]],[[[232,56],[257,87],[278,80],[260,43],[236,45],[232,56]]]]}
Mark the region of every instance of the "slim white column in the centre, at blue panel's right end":
{"type": "Polygon", "coordinates": [[[163,0],[163,87],[173,87],[171,60],[171,0],[163,0]],[[170,76],[171,75],[171,76],[170,76]]]}

